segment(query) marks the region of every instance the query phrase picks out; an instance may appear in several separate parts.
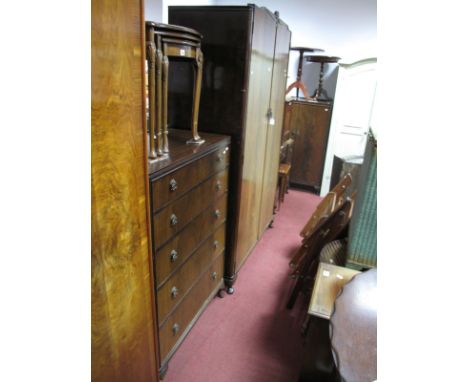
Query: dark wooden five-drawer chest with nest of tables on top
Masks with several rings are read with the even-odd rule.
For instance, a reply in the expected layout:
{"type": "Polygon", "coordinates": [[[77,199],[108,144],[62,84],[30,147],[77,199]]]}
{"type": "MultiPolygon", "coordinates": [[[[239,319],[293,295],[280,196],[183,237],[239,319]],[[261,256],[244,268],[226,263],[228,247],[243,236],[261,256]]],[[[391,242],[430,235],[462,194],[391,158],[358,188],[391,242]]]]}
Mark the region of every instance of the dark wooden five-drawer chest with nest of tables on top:
{"type": "Polygon", "coordinates": [[[229,142],[170,130],[169,157],[149,165],[161,375],[169,359],[224,286],[229,142]]]}

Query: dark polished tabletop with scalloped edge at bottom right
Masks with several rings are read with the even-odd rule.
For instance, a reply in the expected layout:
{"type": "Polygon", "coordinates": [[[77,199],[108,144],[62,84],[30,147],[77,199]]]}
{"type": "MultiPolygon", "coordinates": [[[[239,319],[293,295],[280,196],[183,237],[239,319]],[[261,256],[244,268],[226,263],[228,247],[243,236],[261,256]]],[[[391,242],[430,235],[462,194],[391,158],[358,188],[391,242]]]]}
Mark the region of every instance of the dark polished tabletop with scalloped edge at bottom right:
{"type": "Polygon", "coordinates": [[[349,382],[377,380],[377,270],[343,287],[330,319],[331,344],[341,376],[349,382]]]}

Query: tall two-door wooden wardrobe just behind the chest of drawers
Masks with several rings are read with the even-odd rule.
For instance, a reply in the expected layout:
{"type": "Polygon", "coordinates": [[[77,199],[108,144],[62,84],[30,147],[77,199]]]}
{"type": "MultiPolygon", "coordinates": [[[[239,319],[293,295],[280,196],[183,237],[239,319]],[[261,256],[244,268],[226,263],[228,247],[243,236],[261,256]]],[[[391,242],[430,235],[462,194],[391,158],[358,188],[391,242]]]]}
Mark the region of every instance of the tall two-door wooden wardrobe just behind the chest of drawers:
{"type": "Polygon", "coordinates": [[[225,282],[273,220],[291,32],[266,8],[169,7],[203,35],[199,131],[231,136],[225,282]]]}

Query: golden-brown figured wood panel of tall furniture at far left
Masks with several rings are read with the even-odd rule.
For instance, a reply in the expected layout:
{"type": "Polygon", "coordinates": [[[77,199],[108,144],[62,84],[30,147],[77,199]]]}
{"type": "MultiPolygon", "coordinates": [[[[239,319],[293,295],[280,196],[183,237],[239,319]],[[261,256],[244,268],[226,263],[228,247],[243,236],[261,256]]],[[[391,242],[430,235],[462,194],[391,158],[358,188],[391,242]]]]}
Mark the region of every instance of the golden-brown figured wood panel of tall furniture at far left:
{"type": "Polygon", "coordinates": [[[91,6],[91,378],[157,381],[142,3],[91,6]]]}

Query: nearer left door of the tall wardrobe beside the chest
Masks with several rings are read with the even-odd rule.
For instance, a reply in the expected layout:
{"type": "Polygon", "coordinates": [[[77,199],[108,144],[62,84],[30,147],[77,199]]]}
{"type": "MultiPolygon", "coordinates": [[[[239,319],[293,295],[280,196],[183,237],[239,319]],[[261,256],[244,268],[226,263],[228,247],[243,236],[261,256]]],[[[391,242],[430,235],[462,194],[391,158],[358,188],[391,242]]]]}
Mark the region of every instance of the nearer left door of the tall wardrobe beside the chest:
{"type": "Polygon", "coordinates": [[[255,8],[239,195],[239,230],[235,250],[236,270],[241,267],[258,239],[275,34],[274,15],[264,9],[255,8]]]}

